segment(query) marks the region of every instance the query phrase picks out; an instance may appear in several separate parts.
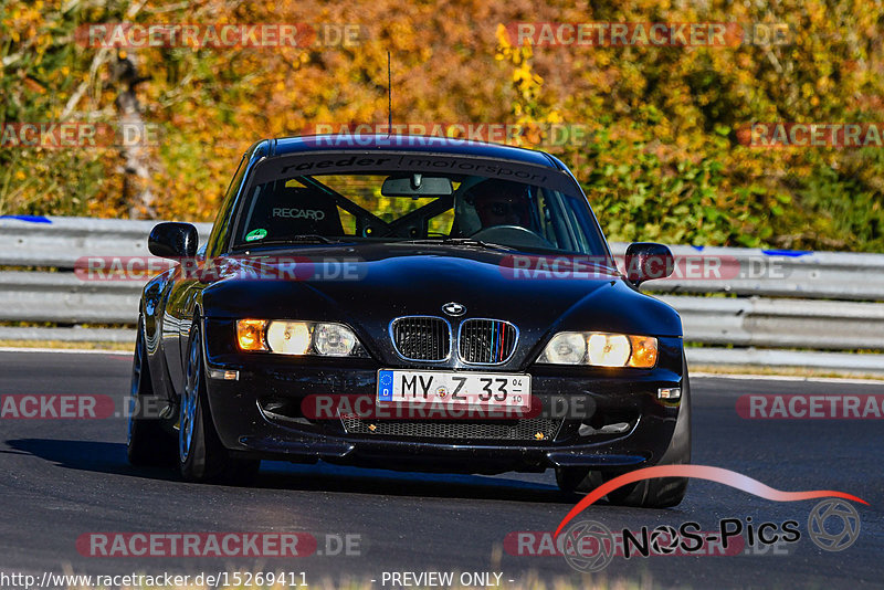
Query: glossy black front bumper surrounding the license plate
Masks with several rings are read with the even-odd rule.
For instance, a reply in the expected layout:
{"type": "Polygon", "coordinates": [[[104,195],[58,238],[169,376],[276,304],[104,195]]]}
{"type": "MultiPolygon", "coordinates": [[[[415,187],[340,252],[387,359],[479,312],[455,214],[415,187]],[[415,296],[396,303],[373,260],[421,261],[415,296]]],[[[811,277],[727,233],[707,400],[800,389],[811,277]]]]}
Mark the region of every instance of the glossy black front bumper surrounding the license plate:
{"type": "Polygon", "coordinates": [[[302,401],[316,394],[373,400],[382,368],[377,361],[242,354],[224,344],[227,323],[213,324],[206,322],[208,368],[239,371],[238,380],[207,380],[215,429],[227,449],[254,457],[460,473],[635,468],[653,465],[663,455],[682,403],[657,399],[660,388],[682,386],[681,339],[664,338],[652,370],[520,369],[532,375],[533,396],[540,401],[546,424],[555,421],[541,440],[473,436],[470,428],[478,432],[483,423],[466,420],[464,428],[452,424],[444,431],[456,431],[456,436],[440,436],[440,429],[429,436],[415,435],[414,429],[408,435],[390,435],[383,429],[355,432],[339,418],[305,417],[302,401]]]}

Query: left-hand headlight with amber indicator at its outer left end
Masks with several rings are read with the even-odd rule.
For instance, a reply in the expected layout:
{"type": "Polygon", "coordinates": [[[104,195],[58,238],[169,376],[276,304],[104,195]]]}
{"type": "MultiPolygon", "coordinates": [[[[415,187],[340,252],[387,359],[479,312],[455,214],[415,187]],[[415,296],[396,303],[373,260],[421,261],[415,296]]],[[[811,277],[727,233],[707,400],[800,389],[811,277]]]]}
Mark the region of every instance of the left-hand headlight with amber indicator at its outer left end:
{"type": "Polygon", "coordinates": [[[350,328],[323,322],[239,319],[236,343],[241,350],[264,350],[277,355],[368,356],[350,328]]]}

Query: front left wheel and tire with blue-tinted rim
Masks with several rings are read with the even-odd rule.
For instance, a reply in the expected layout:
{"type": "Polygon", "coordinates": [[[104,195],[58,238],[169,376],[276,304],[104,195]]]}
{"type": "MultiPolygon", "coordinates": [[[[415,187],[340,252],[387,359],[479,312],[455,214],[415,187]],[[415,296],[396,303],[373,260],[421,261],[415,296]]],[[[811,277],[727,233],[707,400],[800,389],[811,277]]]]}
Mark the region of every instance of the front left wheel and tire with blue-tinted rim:
{"type": "Polygon", "coordinates": [[[206,392],[199,323],[194,323],[190,330],[185,387],[178,405],[178,467],[181,477],[196,483],[252,483],[261,462],[232,459],[214,430],[206,392]]]}

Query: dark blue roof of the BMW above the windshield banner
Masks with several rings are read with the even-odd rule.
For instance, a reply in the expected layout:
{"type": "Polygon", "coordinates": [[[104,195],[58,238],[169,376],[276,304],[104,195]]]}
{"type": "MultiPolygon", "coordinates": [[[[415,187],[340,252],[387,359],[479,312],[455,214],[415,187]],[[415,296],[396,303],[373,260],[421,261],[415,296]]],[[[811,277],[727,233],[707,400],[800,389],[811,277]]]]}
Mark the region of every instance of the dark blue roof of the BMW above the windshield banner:
{"type": "MultiPolygon", "coordinates": [[[[565,170],[565,166],[545,151],[501,144],[452,139],[423,135],[306,135],[265,139],[267,156],[306,151],[399,151],[446,154],[477,158],[505,159],[534,166],[565,170]]],[[[259,141],[253,147],[257,147],[259,141]]]]}

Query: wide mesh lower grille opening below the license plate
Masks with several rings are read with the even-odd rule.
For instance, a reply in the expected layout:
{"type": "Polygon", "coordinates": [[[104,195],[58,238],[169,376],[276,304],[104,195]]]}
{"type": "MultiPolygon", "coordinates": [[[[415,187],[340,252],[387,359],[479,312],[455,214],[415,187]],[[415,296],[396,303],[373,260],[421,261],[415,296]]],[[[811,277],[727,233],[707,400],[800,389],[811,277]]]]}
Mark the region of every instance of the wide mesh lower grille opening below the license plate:
{"type": "Polygon", "coordinates": [[[561,424],[561,420],[551,418],[529,418],[525,420],[485,420],[470,422],[466,420],[362,420],[360,418],[341,418],[348,434],[368,434],[376,436],[438,439],[438,440],[476,440],[476,441],[551,441],[561,424]]]}

